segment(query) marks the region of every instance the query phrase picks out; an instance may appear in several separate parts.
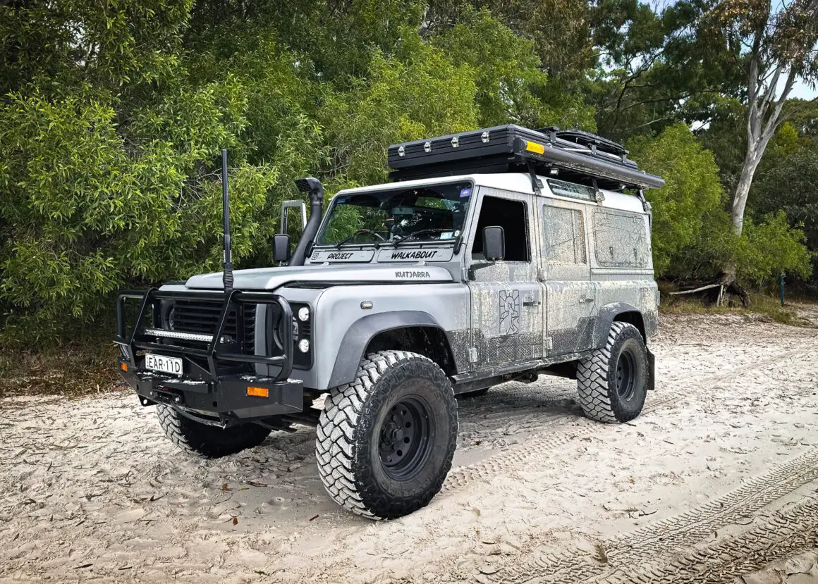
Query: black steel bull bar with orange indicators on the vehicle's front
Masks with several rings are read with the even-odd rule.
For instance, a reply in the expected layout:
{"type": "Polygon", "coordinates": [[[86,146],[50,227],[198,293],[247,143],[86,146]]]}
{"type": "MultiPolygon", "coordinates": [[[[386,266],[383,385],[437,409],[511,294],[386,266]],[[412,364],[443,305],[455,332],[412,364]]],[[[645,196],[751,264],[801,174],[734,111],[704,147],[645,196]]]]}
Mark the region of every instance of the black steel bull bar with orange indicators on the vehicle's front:
{"type": "Polygon", "coordinates": [[[136,390],[144,405],[166,403],[187,417],[213,426],[301,412],[303,383],[290,379],[294,351],[292,319],[290,303],[272,292],[126,290],[120,292],[116,300],[115,342],[122,353],[119,373],[136,390]],[[136,323],[129,333],[125,323],[125,301],[128,300],[141,301],[136,323]],[[162,301],[178,300],[222,302],[212,337],[162,328],[162,301]],[[236,337],[242,339],[240,308],[243,305],[277,305],[281,311],[277,321],[278,354],[244,354],[236,352],[236,343],[225,341],[224,330],[234,308],[236,337]],[[146,320],[150,320],[151,328],[146,327],[146,320]],[[206,342],[206,348],[173,344],[173,335],[194,337],[194,341],[206,342]],[[146,352],[182,359],[182,374],[147,369],[146,352]],[[272,377],[257,375],[255,364],[280,369],[272,377]]]}

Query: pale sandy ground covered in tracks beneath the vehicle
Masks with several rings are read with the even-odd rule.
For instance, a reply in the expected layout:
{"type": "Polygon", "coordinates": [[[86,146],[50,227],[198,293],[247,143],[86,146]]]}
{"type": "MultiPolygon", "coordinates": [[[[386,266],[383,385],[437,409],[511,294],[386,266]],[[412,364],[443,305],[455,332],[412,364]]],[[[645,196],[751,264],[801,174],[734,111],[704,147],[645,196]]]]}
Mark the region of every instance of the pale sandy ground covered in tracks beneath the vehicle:
{"type": "Polygon", "coordinates": [[[443,493],[391,522],[330,502],[307,427],[199,461],[127,392],[7,399],[0,581],[818,582],[818,332],[662,325],[636,421],[555,377],[461,399],[443,493]]]}

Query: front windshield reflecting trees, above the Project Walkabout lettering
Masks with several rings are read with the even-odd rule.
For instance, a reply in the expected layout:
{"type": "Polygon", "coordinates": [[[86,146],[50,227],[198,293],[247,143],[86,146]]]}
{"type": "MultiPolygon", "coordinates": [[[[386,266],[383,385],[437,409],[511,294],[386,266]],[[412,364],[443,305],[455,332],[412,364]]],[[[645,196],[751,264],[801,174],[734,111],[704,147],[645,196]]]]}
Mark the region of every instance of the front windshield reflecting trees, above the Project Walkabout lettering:
{"type": "Polygon", "coordinates": [[[472,184],[396,188],[335,198],[319,245],[454,240],[463,230],[472,184]]]}

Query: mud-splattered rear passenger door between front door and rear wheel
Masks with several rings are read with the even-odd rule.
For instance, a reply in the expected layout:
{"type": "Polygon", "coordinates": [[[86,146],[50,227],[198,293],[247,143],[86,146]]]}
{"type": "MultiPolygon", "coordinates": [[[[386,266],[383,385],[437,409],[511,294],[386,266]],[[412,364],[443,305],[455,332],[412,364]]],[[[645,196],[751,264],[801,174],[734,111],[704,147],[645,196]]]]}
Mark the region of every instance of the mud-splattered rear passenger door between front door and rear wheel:
{"type": "Polygon", "coordinates": [[[585,209],[580,203],[558,199],[545,199],[538,209],[549,357],[591,347],[596,294],[588,263],[585,209]]]}

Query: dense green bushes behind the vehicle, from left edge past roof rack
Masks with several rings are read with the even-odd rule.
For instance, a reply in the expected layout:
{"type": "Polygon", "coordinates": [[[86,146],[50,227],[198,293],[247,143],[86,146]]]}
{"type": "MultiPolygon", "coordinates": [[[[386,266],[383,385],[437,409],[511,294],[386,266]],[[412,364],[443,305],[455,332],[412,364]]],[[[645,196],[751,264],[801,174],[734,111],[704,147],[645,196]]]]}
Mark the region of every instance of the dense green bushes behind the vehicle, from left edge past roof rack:
{"type": "MultiPolygon", "coordinates": [[[[592,127],[547,95],[554,42],[506,8],[436,5],[458,20],[435,28],[398,0],[3,4],[2,337],[50,341],[118,288],[218,270],[222,148],[242,267],[270,264],[299,176],[384,181],[389,143],[481,123],[592,127]]],[[[576,56],[554,57],[571,77],[576,56]]]]}

